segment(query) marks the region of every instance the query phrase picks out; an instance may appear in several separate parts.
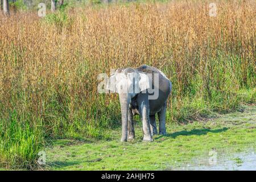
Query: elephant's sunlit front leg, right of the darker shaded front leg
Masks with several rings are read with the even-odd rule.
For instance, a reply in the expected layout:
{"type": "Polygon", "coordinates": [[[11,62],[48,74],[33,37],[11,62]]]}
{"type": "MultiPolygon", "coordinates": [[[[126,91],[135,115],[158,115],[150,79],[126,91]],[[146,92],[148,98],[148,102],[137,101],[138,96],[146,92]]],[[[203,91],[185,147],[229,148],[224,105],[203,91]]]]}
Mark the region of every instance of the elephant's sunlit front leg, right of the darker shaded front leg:
{"type": "Polygon", "coordinates": [[[146,95],[137,98],[139,104],[139,114],[141,115],[143,126],[143,140],[152,142],[152,135],[150,131],[150,118],[149,118],[149,103],[146,95]]]}

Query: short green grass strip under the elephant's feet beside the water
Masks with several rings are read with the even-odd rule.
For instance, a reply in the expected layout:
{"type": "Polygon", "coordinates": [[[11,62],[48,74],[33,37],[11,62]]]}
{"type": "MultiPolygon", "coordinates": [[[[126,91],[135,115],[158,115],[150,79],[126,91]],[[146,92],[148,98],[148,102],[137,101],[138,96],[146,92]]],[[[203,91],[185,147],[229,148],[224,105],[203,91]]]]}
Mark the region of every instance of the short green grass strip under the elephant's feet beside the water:
{"type": "MultiPolygon", "coordinates": [[[[137,123],[134,142],[119,142],[120,129],[105,140],[53,140],[47,149],[47,169],[55,170],[158,170],[174,169],[210,150],[232,153],[256,151],[256,106],[243,112],[219,115],[187,125],[168,123],[167,135],[142,142],[137,123]]],[[[238,160],[236,160],[238,161],[238,160]]],[[[240,161],[238,161],[240,162],[240,161]]]]}

